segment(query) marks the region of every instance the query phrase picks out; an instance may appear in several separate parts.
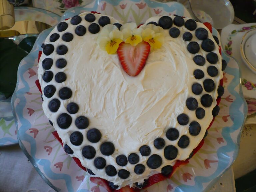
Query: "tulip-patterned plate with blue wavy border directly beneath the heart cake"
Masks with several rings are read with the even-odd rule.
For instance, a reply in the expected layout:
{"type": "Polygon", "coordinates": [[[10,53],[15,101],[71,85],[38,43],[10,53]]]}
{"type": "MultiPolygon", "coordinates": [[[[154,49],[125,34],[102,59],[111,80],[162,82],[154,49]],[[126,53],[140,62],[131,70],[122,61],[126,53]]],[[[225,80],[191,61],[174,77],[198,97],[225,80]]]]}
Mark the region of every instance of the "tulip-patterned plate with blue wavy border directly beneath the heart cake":
{"type": "MultiPolygon", "coordinates": [[[[176,13],[189,16],[183,6],[176,2],[106,0],[95,1],[86,7],[72,8],[62,19],[85,10],[96,10],[137,23],[157,14],[176,13]]],[[[51,29],[47,29],[38,36],[32,51],[19,66],[12,104],[16,112],[20,147],[41,177],[56,191],[106,192],[104,188],[91,183],[86,172],[65,154],[61,144],[53,137],[54,128],[49,124],[42,110],[41,96],[35,86],[37,57],[41,43],[50,31],[51,29]]],[[[215,29],[214,35],[217,35],[215,29]]],[[[202,149],[189,164],[178,169],[171,179],[143,189],[141,192],[207,191],[236,159],[247,106],[241,91],[239,67],[234,59],[224,53],[223,58],[228,62],[224,74],[226,91],[219,105],[220,113],[209,130],[202,149]]]]}

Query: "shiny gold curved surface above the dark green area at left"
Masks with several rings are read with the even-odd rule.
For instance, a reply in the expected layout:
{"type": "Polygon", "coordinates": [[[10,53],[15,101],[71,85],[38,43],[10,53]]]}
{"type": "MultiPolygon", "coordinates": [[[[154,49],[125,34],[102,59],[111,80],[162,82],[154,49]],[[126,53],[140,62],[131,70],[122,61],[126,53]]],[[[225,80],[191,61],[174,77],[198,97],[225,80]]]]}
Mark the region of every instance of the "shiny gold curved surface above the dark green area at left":
{"type": "Polygon", "coordinates": [[[11,37],[23,34],[39,34],[51,26],[39,21],[17,21],[8,30],[0,30],[0,37],[11,37]]]}

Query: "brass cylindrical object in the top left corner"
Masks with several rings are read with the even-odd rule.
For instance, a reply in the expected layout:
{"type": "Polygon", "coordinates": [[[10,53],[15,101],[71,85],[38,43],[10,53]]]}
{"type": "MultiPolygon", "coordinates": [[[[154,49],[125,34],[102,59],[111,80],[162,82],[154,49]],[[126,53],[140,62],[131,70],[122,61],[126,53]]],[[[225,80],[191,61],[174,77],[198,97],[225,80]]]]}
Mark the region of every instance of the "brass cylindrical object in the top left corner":
{"type": "Polygon", "coordinates": [[[0,30],[11,28],[15,23],[14,8],[7,0],[0,0],[0,30]]]}

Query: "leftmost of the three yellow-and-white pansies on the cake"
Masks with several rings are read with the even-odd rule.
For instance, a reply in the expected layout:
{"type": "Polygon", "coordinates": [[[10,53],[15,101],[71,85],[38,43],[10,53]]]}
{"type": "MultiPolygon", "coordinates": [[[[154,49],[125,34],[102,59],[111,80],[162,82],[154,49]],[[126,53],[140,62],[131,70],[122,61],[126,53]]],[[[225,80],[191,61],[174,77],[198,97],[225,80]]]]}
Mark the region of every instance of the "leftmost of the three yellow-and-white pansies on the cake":
{"type": "Polygon", "coordinates": [[[114,54],[123,42],[123,34],[115,25],[108,24],[102,28],[97,41],[101,49],[108,54],[114,54]]]}

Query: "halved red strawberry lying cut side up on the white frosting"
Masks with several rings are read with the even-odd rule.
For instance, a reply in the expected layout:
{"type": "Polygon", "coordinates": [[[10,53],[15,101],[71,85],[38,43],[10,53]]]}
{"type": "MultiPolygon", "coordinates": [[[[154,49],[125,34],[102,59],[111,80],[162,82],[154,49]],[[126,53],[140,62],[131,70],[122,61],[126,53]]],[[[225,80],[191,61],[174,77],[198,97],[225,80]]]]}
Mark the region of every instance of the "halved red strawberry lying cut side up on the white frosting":
{"type": "Polygon", "coordinates": [[[124,71],[130,76],[137,76],[146,64],[150,45],[142,41],[136,46],[129,43],[120,43],[117,49],[119,61],[124,71]]]}

